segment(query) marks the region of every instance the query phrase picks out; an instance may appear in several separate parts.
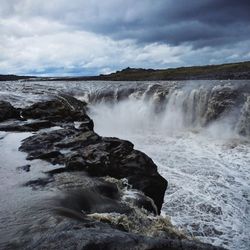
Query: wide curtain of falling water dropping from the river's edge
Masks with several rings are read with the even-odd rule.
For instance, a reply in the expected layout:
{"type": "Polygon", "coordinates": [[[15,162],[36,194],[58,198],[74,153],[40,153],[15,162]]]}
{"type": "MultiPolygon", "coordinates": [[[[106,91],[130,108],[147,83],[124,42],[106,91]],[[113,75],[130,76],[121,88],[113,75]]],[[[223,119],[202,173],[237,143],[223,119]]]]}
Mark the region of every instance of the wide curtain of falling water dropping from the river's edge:
{"type": "Polygon", "coordinates": [[[110,131],[117,127],[123,127],[124,132],[151,127],[173,133],[220,124],[222,133],[224,126],[227,133],[250,135],[250,97],[246,95],[250,96],[230,84],[153,84],[92,92],[88,101],[92,112],[101,113],[98,117],[103,124],[112,121],[110,131]]]}

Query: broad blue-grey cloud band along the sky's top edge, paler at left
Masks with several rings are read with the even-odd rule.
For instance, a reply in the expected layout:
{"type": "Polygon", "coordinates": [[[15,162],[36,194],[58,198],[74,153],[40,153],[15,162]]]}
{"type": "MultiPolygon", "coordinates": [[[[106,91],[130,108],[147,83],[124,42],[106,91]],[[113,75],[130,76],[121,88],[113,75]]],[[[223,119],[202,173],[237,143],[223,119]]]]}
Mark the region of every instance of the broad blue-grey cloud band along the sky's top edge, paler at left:
{"type": "Polygon", "coordinates": [[[5,14],[55,19],[72,29],[114,39],[203,47],[250,38],[249,0],[38,0],[36,5],[31,1],[10,2],[15,4],[7,5],[5,14]]]}

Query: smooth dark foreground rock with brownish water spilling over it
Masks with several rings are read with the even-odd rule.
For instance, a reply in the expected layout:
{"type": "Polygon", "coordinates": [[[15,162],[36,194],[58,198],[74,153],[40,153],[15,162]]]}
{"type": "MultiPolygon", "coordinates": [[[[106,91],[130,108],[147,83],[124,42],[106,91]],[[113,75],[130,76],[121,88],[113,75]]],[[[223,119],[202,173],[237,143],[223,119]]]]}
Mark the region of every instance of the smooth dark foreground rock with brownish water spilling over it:
{"type": "Polygon", "coordinates": [[[123,203],[122,193],[113,183],[84,176],[82,172],[65,172],[54,178],[54,182],[40,179],[40,183],[29,183],[34,187],[59,184],[67,192],[55,198],[53,213],[43,216],[39,225],[33,222],[32,227],[25,228],[11,249],[220,249],[188,240],[171,229],[161,231],[164,224],[159,231],[160,221],[155,227],[152,219],[141,217],[141,212],[137,214],[123,203]]]}

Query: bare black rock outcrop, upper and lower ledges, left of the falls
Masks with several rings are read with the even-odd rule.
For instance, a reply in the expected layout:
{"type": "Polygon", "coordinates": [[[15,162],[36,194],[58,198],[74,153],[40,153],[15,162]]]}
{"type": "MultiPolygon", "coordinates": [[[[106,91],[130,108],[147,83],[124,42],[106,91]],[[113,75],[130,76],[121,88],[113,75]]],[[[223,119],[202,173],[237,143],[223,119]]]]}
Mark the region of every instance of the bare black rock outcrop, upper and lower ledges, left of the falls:
{"type": "Polygon", "coordinates": [[[46,121],[64,127],[25,139],[20,150],[28,153],[28,160],[65,164],[64,171],[81,170],[92,176],[127,178],[132,187],[153,199],[160,213],[167,181],[158,174],[156,165],[147,155],[133,149],[132,143],[97,135],[93,131],[93,121],[86,115],[85,103],[63,96],[33,104],[22,111],[22,116],[46,120],[24,124],[19,131],[47,126],[46,121]],[[74,121],[81,122],[78,128],[73,125],[74,121]]]}

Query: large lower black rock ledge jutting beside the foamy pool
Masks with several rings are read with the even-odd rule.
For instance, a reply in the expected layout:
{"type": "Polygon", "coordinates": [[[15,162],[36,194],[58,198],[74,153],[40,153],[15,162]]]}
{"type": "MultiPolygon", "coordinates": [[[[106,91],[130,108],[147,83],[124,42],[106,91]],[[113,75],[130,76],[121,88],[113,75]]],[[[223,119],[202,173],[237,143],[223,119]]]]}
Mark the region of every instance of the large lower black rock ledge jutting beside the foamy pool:
{"type": "Polygon", "coordinates": [[[65,162],[64,171],[127,178],[132,187],[153,199],[160,212],[167,181],[158,174],[154,162],[128,141],[100,137],[93,131],[60,129],[25,139],[20,150],[28,153],[27,159],[65,162]]]}

